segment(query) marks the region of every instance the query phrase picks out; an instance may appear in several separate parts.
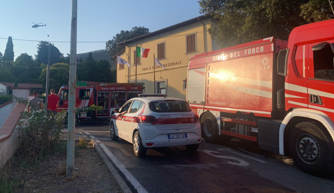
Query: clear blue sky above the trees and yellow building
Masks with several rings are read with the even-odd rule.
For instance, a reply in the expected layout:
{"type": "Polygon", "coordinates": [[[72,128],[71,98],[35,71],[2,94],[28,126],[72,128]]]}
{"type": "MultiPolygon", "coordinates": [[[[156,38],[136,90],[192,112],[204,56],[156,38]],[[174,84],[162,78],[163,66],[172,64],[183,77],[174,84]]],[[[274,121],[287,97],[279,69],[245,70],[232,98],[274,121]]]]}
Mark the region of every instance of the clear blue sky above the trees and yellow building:
{"type": "MultiPolygon", "coordinates": [[[[77,15],[77,41],[108,41],[133,26],[152,32],[201,14],[197,0],[79,0],[77,15]]],[[[70,41],[71,0],[2,0],[0,16],[1,38],[70,41]],[[31,22],[47,25],[34,29],[31,22]]],[[[4,53],[6,43],[7,39],[0,39],[0,52],[4,53]]],[[[13,40],[14,57],[24,52],[34,57],[37,43],[13,40]]],[[[69,43],[54,45],[65,56],[69,53],[69,43]]],[[[100,49],[105,49],[104,42],[77,43],[77,53],[100,49]]]]}

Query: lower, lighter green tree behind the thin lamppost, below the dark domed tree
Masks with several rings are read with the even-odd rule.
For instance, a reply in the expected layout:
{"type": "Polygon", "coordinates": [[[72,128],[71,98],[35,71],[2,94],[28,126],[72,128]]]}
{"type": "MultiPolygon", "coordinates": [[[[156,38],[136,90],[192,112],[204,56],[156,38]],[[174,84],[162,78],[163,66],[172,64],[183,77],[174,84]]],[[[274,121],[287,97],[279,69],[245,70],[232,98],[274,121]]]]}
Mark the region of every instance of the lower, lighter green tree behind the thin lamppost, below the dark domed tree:
{"type": "MultiPolygon", "coordinates": [[[[46,83],[46,71],[47,68],[44,68],[40,73],[38,81],[40,84],[43,84],[43,88],[45,89],[46,83]]],[[[63,84],[67,84],[69,79],[69,64],[66,63],[55,63],[50,66],[50,75],[49,75],[49,88],[55,89],[56,93],[58,93],[59,88],[63,84]]]]}

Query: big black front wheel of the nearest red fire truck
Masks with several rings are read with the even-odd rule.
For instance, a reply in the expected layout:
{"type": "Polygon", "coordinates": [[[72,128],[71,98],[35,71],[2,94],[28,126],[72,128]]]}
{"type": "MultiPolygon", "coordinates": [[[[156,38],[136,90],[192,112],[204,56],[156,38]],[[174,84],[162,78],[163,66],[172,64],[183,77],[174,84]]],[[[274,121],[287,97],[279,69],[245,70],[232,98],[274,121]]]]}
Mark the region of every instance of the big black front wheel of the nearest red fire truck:
{"type": "Polygon", "coordinates": [[[325,176],[334,161],[333,141],[326,137],[317,122],[297,124],[290,133],[289,150],[295,164],[305,173],[325,176]]]}

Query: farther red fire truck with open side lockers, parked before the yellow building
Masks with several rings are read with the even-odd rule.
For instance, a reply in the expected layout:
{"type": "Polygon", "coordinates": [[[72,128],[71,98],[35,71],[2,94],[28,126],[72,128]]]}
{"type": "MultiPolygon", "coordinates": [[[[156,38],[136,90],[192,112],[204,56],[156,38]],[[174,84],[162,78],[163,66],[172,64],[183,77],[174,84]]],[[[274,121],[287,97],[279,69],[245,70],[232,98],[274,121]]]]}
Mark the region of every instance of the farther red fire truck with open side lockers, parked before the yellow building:
{"type": "MultiPolygon", "coordinates": [[[[135,98],[142,93],[143,83],[102,83],[96,86],[76,87],[75,108],[88,107],[91,105],[103,107],[97,112],[81,112],[79,119],[110,118],[114,109],[122,107],[129,99],[135,98]]],[[[68,87],[59,89],[60,98],[58,111],[68,109],[68,87]]]]}

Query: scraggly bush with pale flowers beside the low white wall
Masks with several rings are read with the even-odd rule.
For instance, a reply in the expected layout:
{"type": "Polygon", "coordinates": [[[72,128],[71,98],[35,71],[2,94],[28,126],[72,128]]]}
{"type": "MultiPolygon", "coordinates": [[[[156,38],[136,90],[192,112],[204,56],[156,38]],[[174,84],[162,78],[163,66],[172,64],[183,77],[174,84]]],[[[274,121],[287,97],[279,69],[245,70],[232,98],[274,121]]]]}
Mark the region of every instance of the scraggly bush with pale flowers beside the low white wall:
{"type": "Polygon", "coordinates": [[[19,147],[17,153],[28,161],[53,153],[60,145],[65,112],[44,110],[22,112],[18,122],[19,147]]]}

